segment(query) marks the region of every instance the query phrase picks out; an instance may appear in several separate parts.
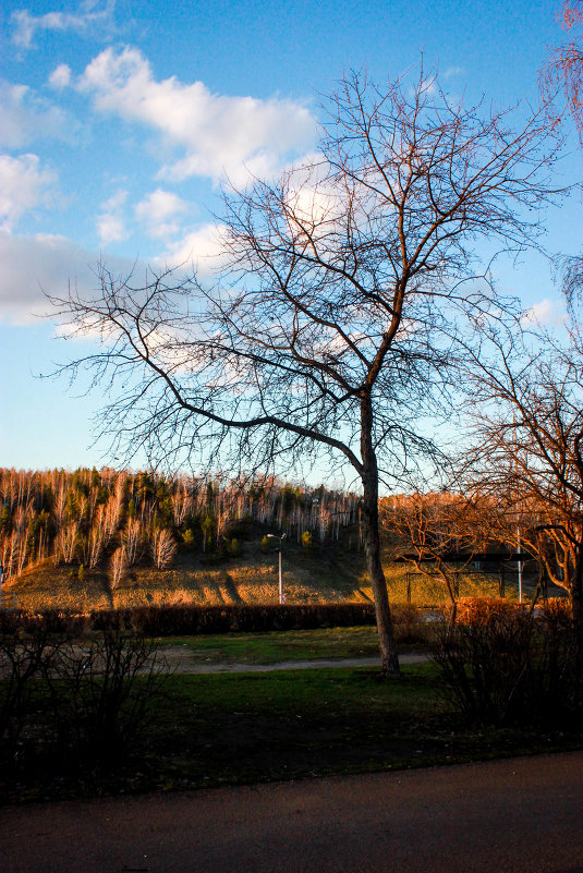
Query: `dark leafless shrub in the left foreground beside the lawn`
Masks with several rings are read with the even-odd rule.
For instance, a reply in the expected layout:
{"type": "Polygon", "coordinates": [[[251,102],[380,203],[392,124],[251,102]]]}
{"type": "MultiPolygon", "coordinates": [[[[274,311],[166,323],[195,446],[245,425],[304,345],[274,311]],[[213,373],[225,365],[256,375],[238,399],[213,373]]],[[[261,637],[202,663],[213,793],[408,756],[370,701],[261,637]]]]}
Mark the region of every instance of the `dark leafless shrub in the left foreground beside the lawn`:
{"type": "Polygon", "coordinates": [[[120,627],[83,641],[51,619],[0,627],[0,763],[111,769],[137,748],[161,692],[163,664],[151,640],[120,627]]]}

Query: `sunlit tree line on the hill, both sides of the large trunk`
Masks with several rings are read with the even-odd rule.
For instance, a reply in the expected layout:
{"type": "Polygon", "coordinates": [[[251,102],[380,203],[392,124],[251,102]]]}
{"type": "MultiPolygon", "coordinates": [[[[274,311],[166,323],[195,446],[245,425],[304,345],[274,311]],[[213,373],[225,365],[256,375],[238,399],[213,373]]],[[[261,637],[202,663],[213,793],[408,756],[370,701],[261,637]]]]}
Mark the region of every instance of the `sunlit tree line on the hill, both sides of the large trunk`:
{"type": "MultiPolygon", "coordinates": [[[[576,554],[562,526],[550,523],[548,502],[523,499],[519,508],[503,494],[486,490],[396,494],[380,499],[379,514],[391,557],[436,579],[452,605],[460,571],[475,555],[497,549],[534,559],[539,590],[551,582],[570,595],[576,554]]],[[[236,556],[242,521],[272,526],[304,544],[312,537],[338,539],[342,528],[356,525],[363,542],[361,497],[321,485],[110,468],[0,469],[0,559],[7,580],[52,561],[76,566],[82,579],[86,570],[106,570],[116,587],[138,563],[171,567],[179,549],[236,556]]]]}

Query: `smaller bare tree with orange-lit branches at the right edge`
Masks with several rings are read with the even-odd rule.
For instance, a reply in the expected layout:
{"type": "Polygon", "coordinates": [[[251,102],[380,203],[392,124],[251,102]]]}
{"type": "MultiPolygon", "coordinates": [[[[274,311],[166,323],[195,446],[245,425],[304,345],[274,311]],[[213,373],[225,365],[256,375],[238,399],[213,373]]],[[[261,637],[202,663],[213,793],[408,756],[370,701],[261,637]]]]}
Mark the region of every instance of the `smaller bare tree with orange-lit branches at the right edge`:
{"type": "Polygon", "coordinates": [[[469,375],[465,462],[470,482],[495,499],[493,534],[515,545],[520,530],[521,547],[568,592],[583,640],[582,340],[573,307],[555,336],[488,331],[490,355],[469,375]]]}

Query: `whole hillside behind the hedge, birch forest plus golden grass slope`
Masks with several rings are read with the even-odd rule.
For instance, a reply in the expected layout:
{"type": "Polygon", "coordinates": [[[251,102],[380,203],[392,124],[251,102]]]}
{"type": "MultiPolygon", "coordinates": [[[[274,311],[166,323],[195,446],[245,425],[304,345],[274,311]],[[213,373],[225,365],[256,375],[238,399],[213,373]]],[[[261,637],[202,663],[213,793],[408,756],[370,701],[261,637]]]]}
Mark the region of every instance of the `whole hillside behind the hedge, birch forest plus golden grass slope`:
{"type": "MultiPolygon", "coordinates": [[[[283,532],[288,603],[372,602],[355,494],[272,477],[0,469],[8,606],[277,603],[278,554],[268,535],[283,532]]],[[[393,603],[406,602],[408,581],[418,606],[446,601],[442,583],[391,562],[388,541],[384,558],[393,603]]],[[[493,577],[459,582],[461,596],[498,592],[493,577]]]]}

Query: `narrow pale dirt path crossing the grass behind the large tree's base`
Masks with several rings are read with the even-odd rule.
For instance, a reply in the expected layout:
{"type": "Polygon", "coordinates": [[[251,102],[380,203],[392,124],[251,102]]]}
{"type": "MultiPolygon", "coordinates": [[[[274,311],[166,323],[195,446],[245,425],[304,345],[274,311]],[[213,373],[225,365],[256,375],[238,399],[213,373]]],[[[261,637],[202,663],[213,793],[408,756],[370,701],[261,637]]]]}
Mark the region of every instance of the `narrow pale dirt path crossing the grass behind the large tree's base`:
{"type": "MultiPolygon", "coordinates": [[[[166,646],[159,650],[169,668],[178,674],[214,674],[214,672],[271,672],[274,670],[309,670],[317,667],[378,667],[378,657],[364,658],[313,658],[311,660],[280,660],[276,664],[244,664],[229,662],[224,664],[208,664],[193,656],[187,648],[180,646],[166,646]]],[[[399,656],[402,665],[424,664],[428,655],[424,653],[408,653],[399,656]]]]}

